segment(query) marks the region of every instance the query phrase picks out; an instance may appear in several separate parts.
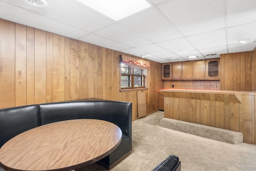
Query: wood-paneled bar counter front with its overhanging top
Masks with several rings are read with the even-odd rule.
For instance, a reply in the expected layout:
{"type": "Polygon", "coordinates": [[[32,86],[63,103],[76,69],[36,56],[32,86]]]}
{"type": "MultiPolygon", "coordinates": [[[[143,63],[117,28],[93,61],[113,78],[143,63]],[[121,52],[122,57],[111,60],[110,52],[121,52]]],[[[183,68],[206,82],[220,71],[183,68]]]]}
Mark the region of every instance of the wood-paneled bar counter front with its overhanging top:
{"type": "Polygon", "coordinates": [[[256,144],[256,92],[162,89],[164,117],[241,132],[256,144]]]}

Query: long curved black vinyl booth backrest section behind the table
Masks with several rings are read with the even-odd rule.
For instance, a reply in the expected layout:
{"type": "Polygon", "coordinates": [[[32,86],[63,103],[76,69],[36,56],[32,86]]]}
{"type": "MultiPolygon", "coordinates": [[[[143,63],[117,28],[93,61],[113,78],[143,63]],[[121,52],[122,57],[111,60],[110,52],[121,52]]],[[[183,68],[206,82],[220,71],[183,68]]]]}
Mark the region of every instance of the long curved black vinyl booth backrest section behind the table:
{"type": "Polygon", "coordinates": [[[132,103],[120,101],[68,101],[39,105],[40,125],[69,119],[100,119],[116,124],[123,134],[132,133],[132,103]]]}

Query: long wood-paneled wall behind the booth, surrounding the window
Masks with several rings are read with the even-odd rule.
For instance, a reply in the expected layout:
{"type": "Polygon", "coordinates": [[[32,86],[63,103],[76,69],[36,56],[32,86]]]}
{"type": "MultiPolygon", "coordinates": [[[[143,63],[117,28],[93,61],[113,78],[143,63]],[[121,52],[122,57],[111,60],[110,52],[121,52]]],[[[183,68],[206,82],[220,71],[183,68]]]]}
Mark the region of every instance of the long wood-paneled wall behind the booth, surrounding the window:
{"type": "MultiPolygon", "coordinates": [[[[0,108],[95,97],[132,102],[135,120],[137,91],[120,91],[120,54],[0,19],[0,108]]],[[[164,86],[161,64],[150,65],[148,114],[164,86]]]]}

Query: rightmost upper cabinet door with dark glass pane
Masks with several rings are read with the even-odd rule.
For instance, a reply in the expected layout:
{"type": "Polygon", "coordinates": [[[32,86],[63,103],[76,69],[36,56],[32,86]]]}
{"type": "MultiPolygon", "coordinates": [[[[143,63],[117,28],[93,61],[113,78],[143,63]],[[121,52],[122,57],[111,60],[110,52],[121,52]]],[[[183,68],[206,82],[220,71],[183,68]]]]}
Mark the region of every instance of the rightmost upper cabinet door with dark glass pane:
{"type": "Polygon", "coordinates": [[[208,80],[220,79],[220,58],[206,60],[205,75],[208,80]]]}

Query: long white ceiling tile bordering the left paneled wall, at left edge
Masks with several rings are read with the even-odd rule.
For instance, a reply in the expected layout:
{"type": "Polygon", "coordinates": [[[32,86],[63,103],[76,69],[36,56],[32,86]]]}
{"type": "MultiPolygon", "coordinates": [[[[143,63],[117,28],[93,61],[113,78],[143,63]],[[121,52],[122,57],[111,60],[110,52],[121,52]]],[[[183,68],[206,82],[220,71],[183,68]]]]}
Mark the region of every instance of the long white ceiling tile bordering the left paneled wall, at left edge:
{"type": "Polygon", "coordinates": [[[9,20],[12,22],[23,24],[25,26],[38,28],[40,30],[52,32],[74,39],[77,39],[81,36],[88,34],[88,32],[84,30],[68,26],[56,20],[52,20],[42,15],[35,14],[28,10],[24,10],[22,8],[0,1],[0,6],[2,4],[4,4],[5,8],[1,8],[0,18],[4,18],[5,20],[9,20]],[[14,9],[15,13],[13,12],[14,9]],[[24,15],[26,16],[26,18],[24,18],[24,15]]]}

